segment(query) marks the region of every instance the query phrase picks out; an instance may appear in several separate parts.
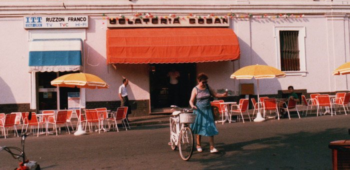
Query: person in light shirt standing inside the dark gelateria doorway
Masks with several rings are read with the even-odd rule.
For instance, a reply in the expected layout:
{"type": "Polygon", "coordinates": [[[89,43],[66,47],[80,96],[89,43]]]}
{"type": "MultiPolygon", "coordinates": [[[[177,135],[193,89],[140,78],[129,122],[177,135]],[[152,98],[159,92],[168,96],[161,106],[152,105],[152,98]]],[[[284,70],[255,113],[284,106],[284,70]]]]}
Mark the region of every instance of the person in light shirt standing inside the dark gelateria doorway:
{"type": "Polygon", "coordinates": [[[180,78],[180,73],[176,71],[174,67],[167,73],[169,77],[169,105],[178,105],[179,104],[179,83],[178,79],[180,78]]]}

